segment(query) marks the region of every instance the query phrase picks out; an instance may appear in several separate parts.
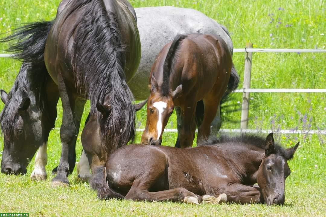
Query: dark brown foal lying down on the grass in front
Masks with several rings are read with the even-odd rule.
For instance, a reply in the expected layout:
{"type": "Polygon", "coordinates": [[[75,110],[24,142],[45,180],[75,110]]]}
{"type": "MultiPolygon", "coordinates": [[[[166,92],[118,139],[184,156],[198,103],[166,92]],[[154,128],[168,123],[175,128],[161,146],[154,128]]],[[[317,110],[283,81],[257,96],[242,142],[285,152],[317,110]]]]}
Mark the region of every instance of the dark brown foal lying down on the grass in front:
{"type": "Polygon", "coordinates": [[[101,199],[283,204],[287,161],[298,145],[283,149],[273,133],[222,136],[189,149],[131,144],[97,169],[91,185],[102,183],[92,186],[101,199]]]}

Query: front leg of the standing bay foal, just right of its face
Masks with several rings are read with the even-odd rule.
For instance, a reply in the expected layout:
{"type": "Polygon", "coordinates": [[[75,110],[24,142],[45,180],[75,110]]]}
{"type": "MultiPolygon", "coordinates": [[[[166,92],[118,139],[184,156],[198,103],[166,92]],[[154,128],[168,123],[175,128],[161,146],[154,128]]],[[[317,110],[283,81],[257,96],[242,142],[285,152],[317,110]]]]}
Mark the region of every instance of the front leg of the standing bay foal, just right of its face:
{"type": "Polygon", "coordinates": [[[178,136],[181,148],[192,147],[196,131],[195,112],[196,102],[185,102],[183,106],[183,126],[178,136]]]}

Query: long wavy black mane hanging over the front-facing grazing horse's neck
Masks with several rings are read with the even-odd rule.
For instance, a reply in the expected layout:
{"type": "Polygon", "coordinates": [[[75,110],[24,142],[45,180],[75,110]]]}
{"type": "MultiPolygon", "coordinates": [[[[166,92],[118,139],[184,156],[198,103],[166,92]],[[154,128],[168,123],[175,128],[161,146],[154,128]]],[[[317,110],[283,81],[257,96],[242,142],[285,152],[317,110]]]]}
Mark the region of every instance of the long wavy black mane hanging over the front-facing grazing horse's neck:
{"type": "Polygon", "coordinates": [[[71,64],[77,87],[86,88],[91,114],[97,115],[101,144],[112,153],[133,141],[136,134],[133,95],[124,72],[125,50],[117,17],[106,10],[103,0],[72,1],[67,16],[81,7],[84,13],[71,30],[71,64]],[[104,120],[96,103],[103,104],[108,96],[112,110],[104,120]]]}

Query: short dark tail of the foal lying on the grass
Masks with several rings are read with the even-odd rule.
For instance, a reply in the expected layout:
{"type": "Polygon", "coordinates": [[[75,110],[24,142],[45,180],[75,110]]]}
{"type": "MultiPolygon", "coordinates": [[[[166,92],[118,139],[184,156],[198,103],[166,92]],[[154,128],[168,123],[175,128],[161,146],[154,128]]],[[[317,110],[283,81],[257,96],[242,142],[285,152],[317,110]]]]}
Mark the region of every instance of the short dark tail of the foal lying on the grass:
{"type": "Polygon", "coordinates": [[[105,167],[97,167],[94,170],[95,171],[92,171],[93,175],[89,183],[91,185],[91,188],[93,188],[97,192],[97,197],[99,199],[124,198],[124,196],[122,196],[121,194],[113,191],[106,183],[105,167]]]}

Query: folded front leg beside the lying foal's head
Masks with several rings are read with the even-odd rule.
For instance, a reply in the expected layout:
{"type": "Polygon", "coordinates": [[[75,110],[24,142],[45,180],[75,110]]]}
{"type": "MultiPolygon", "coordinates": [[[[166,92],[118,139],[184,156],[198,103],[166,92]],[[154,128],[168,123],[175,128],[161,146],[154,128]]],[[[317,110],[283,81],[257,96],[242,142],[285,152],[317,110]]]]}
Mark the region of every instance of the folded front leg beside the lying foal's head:
{"type": "Polygon", "coordinates": [[[235,203],[264,203],[259,187],[252,187],[240,183],[232,183],[225,189],[228,202],[235,203]]]}

